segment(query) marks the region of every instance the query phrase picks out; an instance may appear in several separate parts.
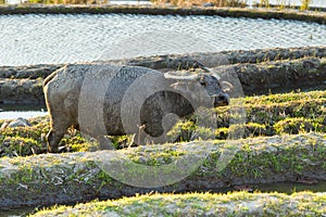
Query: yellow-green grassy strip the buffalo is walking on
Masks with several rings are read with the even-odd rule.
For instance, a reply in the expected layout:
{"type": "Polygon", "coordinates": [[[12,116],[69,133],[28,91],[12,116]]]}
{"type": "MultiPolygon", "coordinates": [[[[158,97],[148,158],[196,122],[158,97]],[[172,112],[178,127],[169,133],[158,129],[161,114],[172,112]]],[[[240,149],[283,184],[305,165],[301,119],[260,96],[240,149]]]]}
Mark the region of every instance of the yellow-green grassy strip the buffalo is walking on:
{"type": "MultiPolygon", "coordinates": [[[[196,122],[179,123],[171,132],[180,135],[179,141],[189,141],[193,135],[210,132],[208,137],[227,139],[239,127],[244,128],[243,138],[274,136],[283,133],[325,132],[326,131],[326,91],[291,92],[261,97],[246,97],[246,124],[229,125],[229,107],[218,107],[217,127],[214,131],[198,128],[196,122]]],[[[45,136],[49,131],[49,117],[30,120],[32,127],[5,128],[1,130],[1,155],[25,156],[47,151],[45,136]]],[[[0,122],[2,125],[4,120],[0,122]]],[[[126,146],[130,136],[111,137],[116,148],[126,146]]],[[[90,144],[74,129],[68,130],[61,145],[68,151],[86,151],[90,144]]]]}

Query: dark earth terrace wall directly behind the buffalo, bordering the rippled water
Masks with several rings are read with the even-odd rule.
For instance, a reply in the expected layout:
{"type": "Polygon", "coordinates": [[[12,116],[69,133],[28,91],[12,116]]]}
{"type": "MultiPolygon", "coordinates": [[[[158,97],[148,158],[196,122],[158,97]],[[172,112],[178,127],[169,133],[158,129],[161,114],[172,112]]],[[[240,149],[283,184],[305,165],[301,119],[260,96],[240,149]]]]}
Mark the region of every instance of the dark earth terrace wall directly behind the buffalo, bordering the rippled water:
{"type": "MultiPolygon", "coordinates": [[[[185,67],[191,66],[193,61],[199,61],[222,75],[222,78],[223,75],[227,76],[228,72],[235,72],[244,94],[250,95],[310,87],[325,88],[324,56],[326,47],[197,53],[188,56],[161,55],[108,63],[138,65],[164,72],[168,68],[176,69],[183,64],[185,67]]],[[[1,66],[0,103],[43,104],[43,78],[62,66],[63,64],[1,66]]]]}

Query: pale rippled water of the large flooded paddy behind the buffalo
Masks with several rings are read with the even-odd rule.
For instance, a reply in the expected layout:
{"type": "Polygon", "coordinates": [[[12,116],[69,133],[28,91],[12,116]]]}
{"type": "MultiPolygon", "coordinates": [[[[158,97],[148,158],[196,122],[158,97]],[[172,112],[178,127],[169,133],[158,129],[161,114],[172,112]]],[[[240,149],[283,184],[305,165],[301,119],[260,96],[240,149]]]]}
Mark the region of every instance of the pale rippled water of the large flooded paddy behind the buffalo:
{"type": "Polygon", "coordinates": [[[143,56],[326,46],[325,25],[221,16],[1,15],[0,29],[0,65],[112,60],[124,53],[143,56]]]}

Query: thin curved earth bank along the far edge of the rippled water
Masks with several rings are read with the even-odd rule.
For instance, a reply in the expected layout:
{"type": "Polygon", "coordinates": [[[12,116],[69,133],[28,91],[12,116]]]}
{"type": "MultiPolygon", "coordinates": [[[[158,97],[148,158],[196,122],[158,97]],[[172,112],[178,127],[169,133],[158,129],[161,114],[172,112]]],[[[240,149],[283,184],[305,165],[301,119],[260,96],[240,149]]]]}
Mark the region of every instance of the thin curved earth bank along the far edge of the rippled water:
{"type": "Polygon", "coordinates": [[[294,10],[277,9],[239,9],[239,8],[176,8],[156,5],[1,5],[0,14],[147,14],[147,15],[218,15],[250,18],[276,18],[314,22],[326,24],[325,12],[300,12],[294,10]]]}

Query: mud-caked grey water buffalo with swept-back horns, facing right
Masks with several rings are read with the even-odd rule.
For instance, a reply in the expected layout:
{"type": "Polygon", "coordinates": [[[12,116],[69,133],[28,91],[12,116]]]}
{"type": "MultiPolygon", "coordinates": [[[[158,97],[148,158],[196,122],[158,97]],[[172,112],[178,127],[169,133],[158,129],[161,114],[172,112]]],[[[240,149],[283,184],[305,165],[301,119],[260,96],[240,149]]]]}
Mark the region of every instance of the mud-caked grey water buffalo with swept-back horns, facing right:
{"type": "Polygon", "coordinates": [[[200,89],[211,103],[203,106],[229,102],[217,78],[202,71],[185,74],[104,63],[66,65],[43,82],[51,117],[51,129],[47,135],[49,151],[59,151],[59,142],[71,126],[78,126],[97,139],[104,135],[136,133],[139,126],[151,137],[160,137],[164,132],[164,115],[185,117],[192,114],[191,99],[199,95],[200,89]],[[131,112],[137,106],[139,114],[131,112]],[[137,118],[140,125],[135,126],[137,118]]]}

